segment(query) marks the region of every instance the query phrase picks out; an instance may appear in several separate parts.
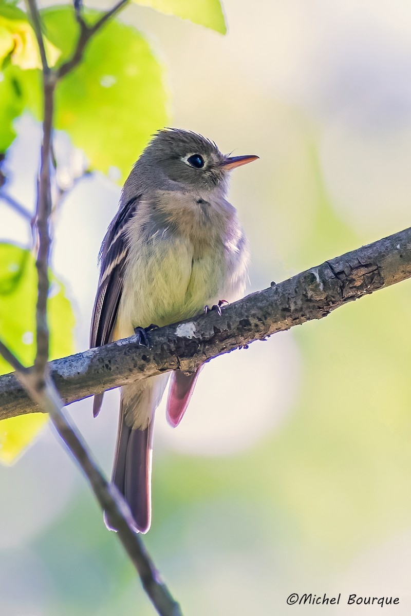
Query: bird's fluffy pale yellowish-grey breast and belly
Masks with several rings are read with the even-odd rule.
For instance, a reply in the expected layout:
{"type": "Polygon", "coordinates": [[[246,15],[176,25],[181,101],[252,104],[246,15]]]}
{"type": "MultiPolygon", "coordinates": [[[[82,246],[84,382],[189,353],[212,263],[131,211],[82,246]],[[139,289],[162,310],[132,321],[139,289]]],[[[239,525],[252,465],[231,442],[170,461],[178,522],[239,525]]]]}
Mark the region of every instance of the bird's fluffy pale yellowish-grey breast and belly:
{"type": "MultiPolygon", "coordinates": [[[[175,197],[175,195],[173,195],[175,197]]],[[[224,215],[205,200],[147,203],[128,230],[129,254],[119,307],[120,335],[163,326],[222,299],[230,276],[224,215]]],[[[226,298],[224,298],[226,299],[226,298]]]]}

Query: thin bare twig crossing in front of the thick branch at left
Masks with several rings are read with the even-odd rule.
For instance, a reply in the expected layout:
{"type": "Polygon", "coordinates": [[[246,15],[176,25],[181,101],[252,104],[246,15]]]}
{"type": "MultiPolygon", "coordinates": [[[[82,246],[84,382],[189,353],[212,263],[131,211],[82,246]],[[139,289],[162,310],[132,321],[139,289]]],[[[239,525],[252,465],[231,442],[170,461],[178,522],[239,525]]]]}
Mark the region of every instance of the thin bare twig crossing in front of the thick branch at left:
{"type": "Polygon", "coordinates": [[[54,383],[48,376],[47,360],[49,355],[49,330],[47,326],[47,296],[49,292],[48,264],[51,245],[49,233],[49,217],[52,211],[50,165],[52,155],[52,126],[54,111],[54,91],[57,75],[61,78],[75,67],[81,60],[84,47],[92,34],[96,33],[107,20],[121,9],[128,0],[121,0],[112,10],[104,14],[94,26],[86,26],[81,17],[81,7],[78,6],[76,15],[80,24],[80,38],[78,47],[71,62],[60,68],[59,72],[52,71],[46,58],[41,23],[36,6],[36,0],[26,0],[30,9],[33,27],[36,31],[39,51],[43,63],[43,93],[44,118],[43,142],[41,146],[41,163],[38,181],[38,198],[36,207],[36,229],[38,230],[38,257],[36,267],[38,272],[38,298],[36,304],[36,357],[34,367],[27,369],[18,362],[12,352],[0,341],[0,354],[15,368],[17,378],[25,390],[36,402],[41,410],[50,414],[59,436],[65,442],[71,455],[74,456],[80,468],[86,475],[89,483],[99,501],[100,506],[110,521],[118,529],[118,537],[123,543],[132,564],[137,569],[145,591],[161,616],[181,616],[181,610],[161,581],[149,555],[144,549],[140,538],[132,530],[132,518],[128,506],[115,487],[110,485],[102,472],[87,452],[86,446],[70,426],[63,415],[63,402],[54,383]],[[63,68],[63,70],[62,70],[63,68]]]}

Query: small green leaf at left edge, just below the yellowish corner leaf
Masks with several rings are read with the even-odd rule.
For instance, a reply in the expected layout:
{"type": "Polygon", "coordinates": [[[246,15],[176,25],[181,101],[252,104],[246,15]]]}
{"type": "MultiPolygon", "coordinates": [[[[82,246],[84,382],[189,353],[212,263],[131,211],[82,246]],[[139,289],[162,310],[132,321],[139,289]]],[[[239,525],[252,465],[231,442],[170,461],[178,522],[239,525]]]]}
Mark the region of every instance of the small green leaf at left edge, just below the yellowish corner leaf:
{"type": "Polygon", "coordinates": [[[13,121],[20,116],[30,101],[30,107],[40,105],[40,71],[22,71],[9,65],[0,71],[0,152],[6,152],[16,133],[13,121]]]}

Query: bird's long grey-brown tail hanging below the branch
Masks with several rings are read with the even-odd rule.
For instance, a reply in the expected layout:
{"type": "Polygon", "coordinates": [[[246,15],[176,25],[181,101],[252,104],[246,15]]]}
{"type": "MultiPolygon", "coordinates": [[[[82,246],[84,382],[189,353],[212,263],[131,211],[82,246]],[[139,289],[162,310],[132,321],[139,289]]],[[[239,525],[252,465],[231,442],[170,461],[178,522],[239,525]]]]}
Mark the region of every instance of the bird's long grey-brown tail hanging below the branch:
{"type": "MultiPolygon", "coordinates": [[[[122,387],[112,482],[123,494],[136,523],[146,533],[151,524],[151,466],[154,411],[168,375],[122,387]]],[[[108,528],[113,526],[104,517],[108,528]]],[[[116,530],[116,529],[113,529],[116,530]]]]}

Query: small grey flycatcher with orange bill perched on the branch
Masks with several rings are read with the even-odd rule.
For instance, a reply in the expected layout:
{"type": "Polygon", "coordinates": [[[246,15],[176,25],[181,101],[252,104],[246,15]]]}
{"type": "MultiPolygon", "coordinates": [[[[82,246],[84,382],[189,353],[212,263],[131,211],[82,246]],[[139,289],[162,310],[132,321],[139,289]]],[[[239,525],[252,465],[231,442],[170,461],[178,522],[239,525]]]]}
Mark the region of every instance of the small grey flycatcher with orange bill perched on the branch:
{"type": "MultiPolygon", "coordinates": [[[[230,171],[257,158],[224,155],[192,131],[155,133],[126,179],[102,241],[91,348],[192,318],[208,306],[221,310],[243,296],[250,251],[226,197],[230,171]]],[[[173,427],[200,370],[171,372],[166,416],[173,427]]],[[[151,524],[153,419],[169,375],[121,387],[112,483],[140,533],[151,524]]],[[[94,396],[94,416],[102,399],[94,396]]],[[[105,523],[116,530],[107,515],[105,523]]]]}

